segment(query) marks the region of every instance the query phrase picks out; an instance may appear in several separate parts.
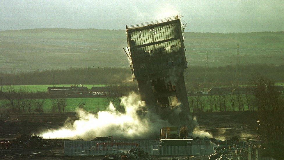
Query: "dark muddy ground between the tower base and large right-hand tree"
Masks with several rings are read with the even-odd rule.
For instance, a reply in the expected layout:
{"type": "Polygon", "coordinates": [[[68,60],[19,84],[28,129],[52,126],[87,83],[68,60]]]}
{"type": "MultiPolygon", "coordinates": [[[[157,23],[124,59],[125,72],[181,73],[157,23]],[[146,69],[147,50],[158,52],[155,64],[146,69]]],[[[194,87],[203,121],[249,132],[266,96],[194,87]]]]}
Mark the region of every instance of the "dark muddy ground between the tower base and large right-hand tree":
{"type": "Polygon", "coordinates": [[[257,134],[253,125],[256,124],[255,111],[244,112],[203,112],[193,113],[201,130],[207,131],[214,138],[228,140],[232,136],[242,139],[255,139],[257,134]]]}

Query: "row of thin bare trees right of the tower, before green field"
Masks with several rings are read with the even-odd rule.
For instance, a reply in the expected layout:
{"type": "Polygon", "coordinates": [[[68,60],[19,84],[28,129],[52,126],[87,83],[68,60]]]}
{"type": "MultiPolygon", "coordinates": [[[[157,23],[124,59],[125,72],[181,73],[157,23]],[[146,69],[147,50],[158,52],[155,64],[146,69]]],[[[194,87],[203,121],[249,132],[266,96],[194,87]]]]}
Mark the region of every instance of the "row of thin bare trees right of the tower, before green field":
{"type": "Polygon", "coordinates": [[[255,110],[255,106],[252,103],[253,94],[251,87],[242,87],[245,89],[245,92],[234,92],[234,89],[239,88],[241,87],[237,85],[218,86],[218,90],[214,94],[204,95],[202,94],[204,89],[196,85],[193,89],[194,93],[188,94],[190,109],[192,112],[255,110]],[[228,90],[228,92],[224,93],[222,90],[228,90]]]}

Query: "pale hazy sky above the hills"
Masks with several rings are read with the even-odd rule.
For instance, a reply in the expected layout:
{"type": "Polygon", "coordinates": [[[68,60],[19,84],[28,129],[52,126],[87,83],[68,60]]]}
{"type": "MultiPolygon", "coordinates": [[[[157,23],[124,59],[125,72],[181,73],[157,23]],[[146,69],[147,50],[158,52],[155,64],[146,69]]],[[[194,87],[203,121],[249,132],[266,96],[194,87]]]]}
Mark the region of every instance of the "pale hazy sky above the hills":
{"type": "Polygon", "coordinates": [[[190,32],[284,31],[284,0],[0,0],[0,30],[125,29],[177,14],[190,32]]]}

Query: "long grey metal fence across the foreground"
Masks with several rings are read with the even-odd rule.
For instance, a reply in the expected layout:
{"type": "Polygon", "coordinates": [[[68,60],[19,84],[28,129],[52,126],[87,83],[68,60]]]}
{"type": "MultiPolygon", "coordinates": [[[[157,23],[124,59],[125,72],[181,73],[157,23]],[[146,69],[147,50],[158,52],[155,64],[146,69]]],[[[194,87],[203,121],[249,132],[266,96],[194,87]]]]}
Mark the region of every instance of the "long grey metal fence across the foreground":
{"type": "Polygon", "coordinates": [[[128,152],[139,147],[150,155],[210,155],[214,144],[208,140],[193,140],[192,145],[163,146],[159,140],[114,140],[111,141],[64,141],[65,155],[106,155],[128,152]]]}

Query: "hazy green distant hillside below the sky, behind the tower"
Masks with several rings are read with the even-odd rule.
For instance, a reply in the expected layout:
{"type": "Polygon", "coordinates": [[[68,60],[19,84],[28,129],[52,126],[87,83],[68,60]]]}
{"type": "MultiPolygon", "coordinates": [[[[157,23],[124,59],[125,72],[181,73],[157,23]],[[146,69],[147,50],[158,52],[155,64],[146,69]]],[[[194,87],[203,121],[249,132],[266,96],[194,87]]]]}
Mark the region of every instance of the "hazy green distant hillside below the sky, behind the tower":
{"type": "MultiPolygon", "coordinates": [[[[185,32],[188,65],[236,63],[240,44],[242,64],[284,64],[284,32],[192,33],[185,32]]],[[[128,67],[123,51],[124,30],[26,29],[0,31],[2,72],[66,69],[69,67],[128,67]]]]}

